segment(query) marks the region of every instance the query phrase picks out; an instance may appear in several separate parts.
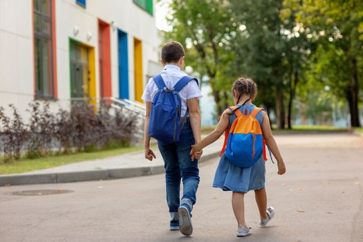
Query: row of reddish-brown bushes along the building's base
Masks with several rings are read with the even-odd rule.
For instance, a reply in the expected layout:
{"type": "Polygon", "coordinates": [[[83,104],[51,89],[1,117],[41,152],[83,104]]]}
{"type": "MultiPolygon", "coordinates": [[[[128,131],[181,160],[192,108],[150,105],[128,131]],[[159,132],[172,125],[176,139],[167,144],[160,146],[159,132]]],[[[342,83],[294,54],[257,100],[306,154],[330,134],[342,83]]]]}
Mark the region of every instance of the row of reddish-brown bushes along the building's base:
{"type": "Polygon", "coordinates": [[[29,104],[30,120],[24,123],[17,109],[8,118],[0,107],[0,149],[3,161],[48,156],[51,153],[95,151],[125,147],[131,144],[136,131],[136,117],[120,110],[111,110],[107,103],[95,112],[86,102],[73,103],[71,111],[50,112],[49,104],[29,104]],[[112,114],[111,114],[112,113],[112,114]]]}

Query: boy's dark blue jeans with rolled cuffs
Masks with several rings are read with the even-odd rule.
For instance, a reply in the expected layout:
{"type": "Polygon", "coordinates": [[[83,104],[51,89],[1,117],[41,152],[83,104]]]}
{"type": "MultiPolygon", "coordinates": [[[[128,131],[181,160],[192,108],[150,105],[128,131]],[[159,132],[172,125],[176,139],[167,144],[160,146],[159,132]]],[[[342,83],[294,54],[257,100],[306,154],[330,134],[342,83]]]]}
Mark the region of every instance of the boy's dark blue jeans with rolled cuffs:
{"type": "Polygon", "coordinates": [[[180,179],[183,178],[183,197],[181,203],[187,203],[192,209],[196,203],[196,190],[199,184],[198,160],[191,160],[190,151],[194,145],[194,136],[189,119],[180,132],[176,143],[163,144],[158,147],[165,163],[165,180],[167,183],[167,205],[171,219],[177,218],[180,205],[180,179]]]}

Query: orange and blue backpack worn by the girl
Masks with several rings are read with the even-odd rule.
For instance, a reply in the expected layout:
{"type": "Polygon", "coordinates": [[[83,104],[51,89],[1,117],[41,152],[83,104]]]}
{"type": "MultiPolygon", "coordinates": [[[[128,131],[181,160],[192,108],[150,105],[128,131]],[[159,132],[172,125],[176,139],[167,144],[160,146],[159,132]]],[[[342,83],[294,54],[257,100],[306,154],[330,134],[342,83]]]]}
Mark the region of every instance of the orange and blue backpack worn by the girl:
{"type": "MultiPolygon", "coordinates": [[[[230,125],[230,129],[225,131],[225,142],[221,155],[225,153],[225,158],[237,167],[251,167],[261,156],[266,158],[266,145],[261,125],[256,118],[259,111],[263,110],[255,107],[251,113],[248,109],[241,112],[241,106],[230,106],[236,119],[230,125]]],[[[231,120],[231,119],[230,119],[231,120]]]]}

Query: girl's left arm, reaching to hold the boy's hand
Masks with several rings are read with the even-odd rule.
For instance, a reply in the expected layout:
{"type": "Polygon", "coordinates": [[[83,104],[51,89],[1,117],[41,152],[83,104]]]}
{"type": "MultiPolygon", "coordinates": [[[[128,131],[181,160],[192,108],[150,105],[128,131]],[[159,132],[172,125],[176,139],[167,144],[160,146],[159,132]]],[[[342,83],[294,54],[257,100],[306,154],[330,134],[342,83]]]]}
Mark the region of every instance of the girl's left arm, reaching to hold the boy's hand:
{"type": "Polygon", "coordinates": [[[216,129],[212,131],[207,137],[205,137],[201,142],[196,145],[192,145],[192,151],[190,152],[192,156],[194,156],[194,152],[201,151],[204,147],[212,144],[212,142],[218,140],[221,135],[224,133],[225,129],[227,129],[228,124],[230,122],[230,109],[226,109],[219,120],[216,129]]]}

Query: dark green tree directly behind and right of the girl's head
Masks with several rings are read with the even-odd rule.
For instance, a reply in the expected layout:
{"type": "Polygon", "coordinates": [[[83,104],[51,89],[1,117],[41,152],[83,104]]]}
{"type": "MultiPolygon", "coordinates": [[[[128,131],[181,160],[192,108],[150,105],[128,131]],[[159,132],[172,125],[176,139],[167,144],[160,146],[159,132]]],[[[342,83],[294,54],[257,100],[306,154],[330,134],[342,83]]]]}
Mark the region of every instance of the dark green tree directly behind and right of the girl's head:
{"type": "Polygon", "coordinates": [[[288,127],[291,127],[292,100],[299,82],[308,46],[306,37],[291,16],[283,17],[282,1],[232,0],[241,35],[236,41],[237,62],[243,73],[259,84],[260,99],[266,109],[274,109],[277,127],[283,129],[288,96],[288,127]]]}

